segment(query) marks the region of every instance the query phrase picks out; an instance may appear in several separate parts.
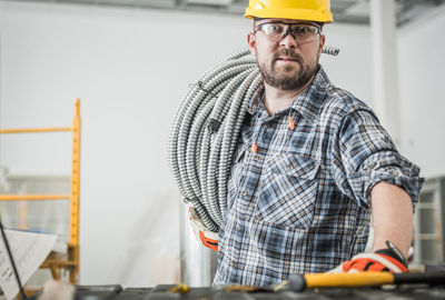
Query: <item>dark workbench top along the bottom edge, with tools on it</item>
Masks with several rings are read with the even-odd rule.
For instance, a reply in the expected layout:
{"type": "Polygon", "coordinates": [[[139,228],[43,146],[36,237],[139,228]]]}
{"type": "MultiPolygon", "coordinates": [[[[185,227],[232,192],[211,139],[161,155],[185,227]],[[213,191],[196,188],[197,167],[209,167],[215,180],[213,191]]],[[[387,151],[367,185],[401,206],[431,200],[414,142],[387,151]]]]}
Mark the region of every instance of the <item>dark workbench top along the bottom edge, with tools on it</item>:
{"type": "Polygon", "coordinates": [[[225,292],[222,287],[190,288],[188,292],[170,292],[175,286],[127,288],[120,286],[78,286],[75,300],[445,300],[443,286],[398,286],[356,289],[312,289],[304,292],[225,292]]]}

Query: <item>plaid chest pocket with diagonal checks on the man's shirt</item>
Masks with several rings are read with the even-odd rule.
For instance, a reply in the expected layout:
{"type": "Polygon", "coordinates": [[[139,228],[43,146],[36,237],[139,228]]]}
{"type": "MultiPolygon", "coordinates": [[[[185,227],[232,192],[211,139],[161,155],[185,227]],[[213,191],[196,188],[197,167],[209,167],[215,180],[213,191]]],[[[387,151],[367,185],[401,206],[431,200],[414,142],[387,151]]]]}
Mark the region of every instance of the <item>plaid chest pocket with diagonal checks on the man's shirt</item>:
{"type": "Polygon", "coordinates": [[[296,154],[270,157],[261,174],[256,217],[263,221],[307,229],[314,219],[319,161],[296,154]]]}

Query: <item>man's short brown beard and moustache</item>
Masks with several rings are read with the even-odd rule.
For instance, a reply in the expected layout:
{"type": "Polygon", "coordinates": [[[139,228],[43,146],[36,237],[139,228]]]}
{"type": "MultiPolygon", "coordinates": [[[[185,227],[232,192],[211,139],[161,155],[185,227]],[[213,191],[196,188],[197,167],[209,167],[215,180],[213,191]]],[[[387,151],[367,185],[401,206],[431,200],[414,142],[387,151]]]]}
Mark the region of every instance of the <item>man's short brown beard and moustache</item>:
{"type": "Polygon", "coordinates": [[[318,61],[314,60],[309,63],[304,63],[303,57],[298,53],[291,52],[288,49],[279,50],[270,64],[267,62],[258,62],[259,71],[264,81],[280,90],[297,90],[303,88],[309,82],[314,74],[318,71],[318,61]],[[275,63],[280,57],[291,58],[299,64],[299,71],[295,66],[277,67],[275,63]]]}

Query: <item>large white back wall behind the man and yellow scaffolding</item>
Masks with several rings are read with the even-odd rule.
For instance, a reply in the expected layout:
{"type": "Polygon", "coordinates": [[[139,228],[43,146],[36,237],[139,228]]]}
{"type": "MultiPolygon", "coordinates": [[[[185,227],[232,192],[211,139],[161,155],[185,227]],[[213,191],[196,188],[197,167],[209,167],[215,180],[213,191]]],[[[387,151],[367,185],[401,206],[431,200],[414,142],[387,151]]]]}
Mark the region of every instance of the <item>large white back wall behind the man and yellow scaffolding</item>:
{"type": "MultiPolygon", "coordinates": [[[[172,269],[170,121],[188,83],[245,47],[248,30],[241,17],[0,3],[1,128],[70,126],[81,99],[81,283],[156,284],[162,270],[154,266],[172,269]]],[[[342,49],[322,59],[330,79],[372,104],[369,30],[325,31],[342,49]]],[[[69,137],[52,134],[2,137],[0,164],[69,173],[69,137]]]]}

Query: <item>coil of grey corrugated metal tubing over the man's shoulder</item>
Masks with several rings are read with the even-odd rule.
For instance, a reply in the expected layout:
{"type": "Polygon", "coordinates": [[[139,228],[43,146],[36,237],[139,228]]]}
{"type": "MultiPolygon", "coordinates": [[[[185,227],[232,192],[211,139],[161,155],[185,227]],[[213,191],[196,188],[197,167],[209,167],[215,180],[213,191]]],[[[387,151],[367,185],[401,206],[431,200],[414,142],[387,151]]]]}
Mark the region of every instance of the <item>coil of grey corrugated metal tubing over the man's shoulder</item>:
{"type": "Polygon", "coordinates": [[[190,84],[172,121],[168,142],[171,172],[184,201],[218,232],[227,206],[227,180],[246,116],[261,84],[256,60],[237,51],[190,84]]]}

